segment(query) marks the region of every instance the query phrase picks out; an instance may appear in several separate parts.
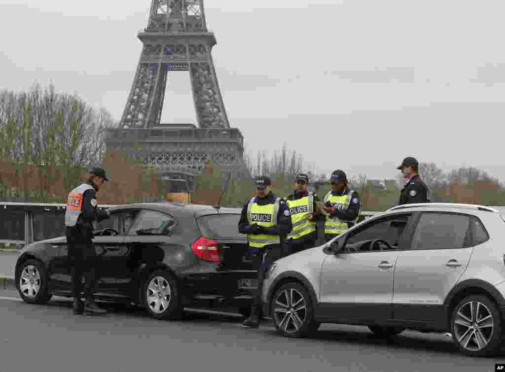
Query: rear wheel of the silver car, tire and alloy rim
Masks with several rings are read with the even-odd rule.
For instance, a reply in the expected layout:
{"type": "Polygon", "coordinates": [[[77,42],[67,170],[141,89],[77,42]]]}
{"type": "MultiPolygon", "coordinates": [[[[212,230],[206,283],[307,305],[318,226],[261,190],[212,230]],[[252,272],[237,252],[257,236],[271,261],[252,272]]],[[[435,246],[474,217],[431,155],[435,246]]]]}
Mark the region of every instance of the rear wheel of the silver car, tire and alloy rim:
{"type": "Polygon", "coordinates": [[[450,317],[452,340],[469,356],[490,356],[501,346],[501,315],[488,297],[471,295],[461,300],[450,317]]]}

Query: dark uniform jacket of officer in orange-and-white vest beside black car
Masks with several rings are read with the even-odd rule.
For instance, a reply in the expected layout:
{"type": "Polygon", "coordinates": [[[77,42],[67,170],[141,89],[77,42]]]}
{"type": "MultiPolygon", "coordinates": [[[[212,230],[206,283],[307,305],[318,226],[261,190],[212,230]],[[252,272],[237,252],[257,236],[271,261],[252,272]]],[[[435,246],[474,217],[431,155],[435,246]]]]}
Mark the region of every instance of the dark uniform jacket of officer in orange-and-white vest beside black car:
{"type": "Polygon", "coordinates": [[[109,218],[109,214],[98,209],[96,200],[96,185],[93,182],[85,182],[93,187],[93,190],[86,190],[82,195],[82,211],[73,227],[67,227],[67,236],[92,238],[93,222],[100,222],[109,218]]]}

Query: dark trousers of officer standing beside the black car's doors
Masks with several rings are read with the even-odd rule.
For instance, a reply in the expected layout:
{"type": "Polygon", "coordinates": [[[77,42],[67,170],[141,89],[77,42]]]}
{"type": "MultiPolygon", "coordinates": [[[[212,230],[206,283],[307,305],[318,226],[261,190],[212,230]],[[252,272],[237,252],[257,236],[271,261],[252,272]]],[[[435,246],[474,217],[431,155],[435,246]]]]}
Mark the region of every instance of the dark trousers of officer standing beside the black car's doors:
{"type": "Polygon", "coordinates": [[[72,276],[72,293],[75,299],[81,298],[84,290],[86,299],[91,299],[97,290],[96,253],[92,231],[80,225],[67,227],[68,258],[72,276]],[[84,277],[84,286],[82,285],[84,277]]]}

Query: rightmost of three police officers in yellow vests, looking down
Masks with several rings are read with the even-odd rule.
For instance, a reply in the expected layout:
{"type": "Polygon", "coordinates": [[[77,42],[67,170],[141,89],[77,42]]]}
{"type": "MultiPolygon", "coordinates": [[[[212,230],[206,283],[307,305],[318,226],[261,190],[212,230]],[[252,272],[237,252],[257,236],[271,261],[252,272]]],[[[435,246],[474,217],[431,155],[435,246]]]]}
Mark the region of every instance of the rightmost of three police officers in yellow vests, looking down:
{"type": "Polygon", "coordinates": [[[348,190],[344,171],[336,170],[330,178],[331,191],[324,197],[320,209],[326,213],[324,236],[326,241],[342,234],[358,222],[361,200],[356,191],[348,190]]]}

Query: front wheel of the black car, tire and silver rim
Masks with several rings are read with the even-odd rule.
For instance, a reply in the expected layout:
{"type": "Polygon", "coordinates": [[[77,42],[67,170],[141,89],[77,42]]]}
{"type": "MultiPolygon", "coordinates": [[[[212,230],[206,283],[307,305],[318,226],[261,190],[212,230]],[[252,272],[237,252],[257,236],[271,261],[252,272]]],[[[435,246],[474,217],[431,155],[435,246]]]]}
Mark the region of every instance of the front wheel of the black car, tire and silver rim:
{"type": "Polygon", "coordinates": [[[28,259],[20,265],[16,288],[26,303],[40,305],[52,297],[47,289],[47,272],[36,259],[28,259]]]}

